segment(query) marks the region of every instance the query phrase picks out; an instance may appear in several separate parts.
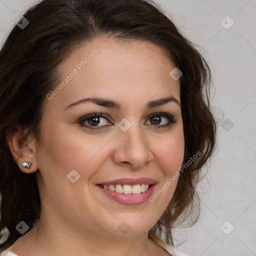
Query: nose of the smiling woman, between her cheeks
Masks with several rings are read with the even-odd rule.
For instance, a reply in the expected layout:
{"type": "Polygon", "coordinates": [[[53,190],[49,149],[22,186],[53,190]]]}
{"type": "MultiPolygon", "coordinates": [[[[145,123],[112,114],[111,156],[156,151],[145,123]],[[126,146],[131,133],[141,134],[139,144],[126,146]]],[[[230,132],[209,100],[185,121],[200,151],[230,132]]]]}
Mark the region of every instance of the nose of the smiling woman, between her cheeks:
{"type": "Polygon", "coordinates": [[[153,159],[148,140],[140,124],[132,123],[128,130],[118,130],[113,161],[132,169],[142,168],[153,159]]]}

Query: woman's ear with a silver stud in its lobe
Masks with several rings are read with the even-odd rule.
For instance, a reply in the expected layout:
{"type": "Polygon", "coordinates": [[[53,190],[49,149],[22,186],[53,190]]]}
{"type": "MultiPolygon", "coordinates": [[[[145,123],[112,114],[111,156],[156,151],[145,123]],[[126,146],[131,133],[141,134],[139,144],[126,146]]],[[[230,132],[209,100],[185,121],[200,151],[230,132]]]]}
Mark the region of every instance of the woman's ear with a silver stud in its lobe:
{"type": "Polygon", "coordinates": [[[8,134],[7,143],[21,171],[32,173],[38,169],[35,158],[35,138],[31,134],[29,135],[28,130],[16,127],[8,134]],[[31,163],[30,169],[22,166],[25,161],[31,163]]]}

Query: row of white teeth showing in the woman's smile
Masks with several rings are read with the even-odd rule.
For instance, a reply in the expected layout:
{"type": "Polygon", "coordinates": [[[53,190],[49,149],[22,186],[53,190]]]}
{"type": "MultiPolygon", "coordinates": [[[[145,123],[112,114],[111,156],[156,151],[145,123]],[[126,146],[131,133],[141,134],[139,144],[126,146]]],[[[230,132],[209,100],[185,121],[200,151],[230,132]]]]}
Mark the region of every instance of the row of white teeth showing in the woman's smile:
{"type": "Polygon", "coordinates": [[[140,194],[146,191],[149,187],[148,184],[136,184],[136,185],[100,185],[106,190],[115,191],[116,193],[124,193],[124,194],[140,194]]]}

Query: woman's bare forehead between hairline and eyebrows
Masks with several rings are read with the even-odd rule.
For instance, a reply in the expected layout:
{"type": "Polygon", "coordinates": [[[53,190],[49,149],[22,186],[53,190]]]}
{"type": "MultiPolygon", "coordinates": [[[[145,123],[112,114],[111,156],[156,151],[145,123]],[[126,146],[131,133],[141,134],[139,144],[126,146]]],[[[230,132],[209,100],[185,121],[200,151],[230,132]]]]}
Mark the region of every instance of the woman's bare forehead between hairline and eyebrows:
{"type": "Polygon", "coordinates": [[[59,66],[64,86],[54,100],[105,96],[127,101],[143,95],[147,101],[156,94],[179,98],[179,81],[169,75],[174,67],[155,44],[97,37],[78,45],[59,66]]]}

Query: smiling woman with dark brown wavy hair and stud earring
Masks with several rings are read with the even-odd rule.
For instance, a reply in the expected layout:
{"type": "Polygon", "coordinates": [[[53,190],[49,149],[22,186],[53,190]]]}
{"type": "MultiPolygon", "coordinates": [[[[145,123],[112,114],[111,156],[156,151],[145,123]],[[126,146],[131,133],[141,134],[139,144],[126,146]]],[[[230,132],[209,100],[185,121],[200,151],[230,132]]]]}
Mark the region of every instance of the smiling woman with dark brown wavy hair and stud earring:
{"type": "Polygon", "coordinates": [[[1,255],[186,255],[215,145],[207,63],[153,2],[42,0],[0,51],[1,255]]]}

